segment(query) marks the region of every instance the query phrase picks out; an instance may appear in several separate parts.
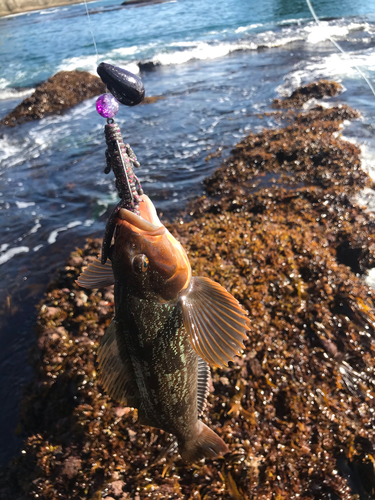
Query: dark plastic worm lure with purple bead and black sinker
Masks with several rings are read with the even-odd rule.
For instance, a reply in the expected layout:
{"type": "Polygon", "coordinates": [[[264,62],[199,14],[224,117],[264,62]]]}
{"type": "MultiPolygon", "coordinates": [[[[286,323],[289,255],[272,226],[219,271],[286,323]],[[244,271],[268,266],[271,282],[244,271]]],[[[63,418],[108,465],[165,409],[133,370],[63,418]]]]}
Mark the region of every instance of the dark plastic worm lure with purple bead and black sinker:
{"type": "Polygon", "coordinates": [[[109,174],[112,170],[115,174],[116,188],[121,198],[111,213],[104,232],[101,262],[105,264],[116,227],[118,212],[121,208],[126,208],[139,215],[140,197],[143,194],[141,184],[133,171],[133,166],[140,167],[140,164],[130,145],[124,144],[120,127],[113,120],[113,117],[116,116],[119,110],[117,100],[127,106],[134,106],[143,100],[145,90],[143,83],[137,76],[122,68],[101,63],[97,71],[102,81],[113,94],[103,94],[96,102],[98,113],[107,118],[107,125],[104,129],[107,143],[105,153],[107,166],[104,172],[109,174]]]}

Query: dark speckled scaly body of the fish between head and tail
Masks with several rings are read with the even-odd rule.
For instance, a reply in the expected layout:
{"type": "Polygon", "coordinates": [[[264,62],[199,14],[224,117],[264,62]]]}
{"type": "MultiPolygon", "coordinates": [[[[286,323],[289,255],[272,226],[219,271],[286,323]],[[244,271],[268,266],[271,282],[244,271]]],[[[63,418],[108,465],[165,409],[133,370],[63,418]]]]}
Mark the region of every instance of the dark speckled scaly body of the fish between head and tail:
{"type": "Polygon", "coordinates": [[[189,376],[198,370],[198,355],[184,331],[181,311],[162,304],[153,305],[150,314],[147,300],[126,297],[126,303],[116,314],[116,325],[141,396],[139,419],[181,437],[198,417],[198,377],[189,376]],[[132,327],[127,328],[130,317],[132,327]]]}

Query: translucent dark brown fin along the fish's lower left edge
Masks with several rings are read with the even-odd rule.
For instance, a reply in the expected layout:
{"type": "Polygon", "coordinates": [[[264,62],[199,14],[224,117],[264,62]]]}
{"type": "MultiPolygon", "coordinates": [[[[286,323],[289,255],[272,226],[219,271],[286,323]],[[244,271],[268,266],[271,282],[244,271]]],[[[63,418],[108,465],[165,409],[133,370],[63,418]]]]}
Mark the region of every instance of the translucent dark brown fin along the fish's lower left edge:
{"type": "Polygon", "coordinates": [[[107,328],[98,350],[99,379],[105,391],[124,406],[139,408],[139,391],[124,343],[117,342],[115,320],[107,328]]]}

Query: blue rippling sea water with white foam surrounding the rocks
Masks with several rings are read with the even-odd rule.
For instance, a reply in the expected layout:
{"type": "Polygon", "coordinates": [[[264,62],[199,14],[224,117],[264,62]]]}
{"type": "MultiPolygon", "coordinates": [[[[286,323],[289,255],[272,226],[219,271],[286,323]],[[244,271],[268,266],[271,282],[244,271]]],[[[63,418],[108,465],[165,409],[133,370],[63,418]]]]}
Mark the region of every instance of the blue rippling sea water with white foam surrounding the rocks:
{"type": "MultiPolygon", "coordinates": [[[[375,0],[175,0],[122,7],[114,0],[0,19],[0,118],[60,70],[110,62],[138,73],[164,100],[121,107],[117,121],[141,162],[145,192],[173,217],[248,132],[275,125],[258,114],[318,78],[357,108],[345,137],[363,148],[375,179],[375,0]],[[98,47],[95,54],[91,28],[98,47]],[[347,51],[337,53],[333,37],[347,51]],[[222,158],[205,161],[218,148],[222,158]]],[[[104,119],[90,99],[62,116],[0,130],[0,460],[15,435],[22,386],[32,377],[35,305],[54,272],[88,236],[102,236],[117,196],[105,167],[104,119]]],[[[375,195],[359,197],[375,210],[375,195]]],[[[372,276],[372,275],[371,275],[372,276]]]]}

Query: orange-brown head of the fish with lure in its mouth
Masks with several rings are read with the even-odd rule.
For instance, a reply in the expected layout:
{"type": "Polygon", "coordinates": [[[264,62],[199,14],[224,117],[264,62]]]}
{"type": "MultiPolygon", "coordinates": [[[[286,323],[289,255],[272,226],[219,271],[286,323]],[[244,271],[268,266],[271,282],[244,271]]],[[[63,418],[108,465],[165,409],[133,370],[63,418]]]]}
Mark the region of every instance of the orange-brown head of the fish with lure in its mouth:
{"type": "Polygon", "coordinates": [[[186,252],[160,222],[148,196],[142,195],[139,210],[140,216],[119,211],[111,251],[115,280],[139,298],[177,300],[191,279],[186,252]]]}

